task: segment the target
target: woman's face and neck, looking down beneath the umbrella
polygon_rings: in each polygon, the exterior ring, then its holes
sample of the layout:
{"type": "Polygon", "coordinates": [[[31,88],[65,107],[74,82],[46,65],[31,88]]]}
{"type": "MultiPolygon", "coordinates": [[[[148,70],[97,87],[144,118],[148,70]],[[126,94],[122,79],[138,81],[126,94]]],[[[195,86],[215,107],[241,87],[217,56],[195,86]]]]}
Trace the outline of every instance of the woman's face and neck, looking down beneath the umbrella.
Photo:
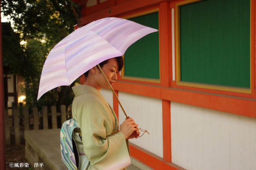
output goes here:
{"type": "MultiPolygon", "coordinates": [[[[114,85],[115,81],[117,80],[118,74],[118,63],[115,58],[109,59],[108,63],[104,64],[101,67],[102,71],[104,72],[105,76],[108,79],[110,85],[114,85]]],[[[97,68],[97,73],[95,74],[95,80],[97,81],[96,89],[100,90],[101,88],[110,89],[107,81],[105,80],[103,74],[101,73],[100,69],[97,68]]]]}

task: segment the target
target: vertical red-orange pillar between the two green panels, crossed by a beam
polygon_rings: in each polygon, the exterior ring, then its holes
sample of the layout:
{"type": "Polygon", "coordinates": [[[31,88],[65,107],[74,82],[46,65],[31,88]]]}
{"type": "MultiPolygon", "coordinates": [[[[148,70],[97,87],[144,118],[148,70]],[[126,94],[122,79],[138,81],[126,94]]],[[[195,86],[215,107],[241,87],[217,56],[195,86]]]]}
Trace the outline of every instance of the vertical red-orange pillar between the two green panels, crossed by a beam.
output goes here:
{"type": "MultiPolygon", "coordinates": [[[[159,40],[160,40],[160,81],[162,87],[170,87],[172,80],[171,63],[171,9],[169,2],[160,4],[159,9],[159,40]]],[[[171,104],[162,99],[162,133],[163,133],[163,160],[172,162],[171,153],[171,104]]]]}

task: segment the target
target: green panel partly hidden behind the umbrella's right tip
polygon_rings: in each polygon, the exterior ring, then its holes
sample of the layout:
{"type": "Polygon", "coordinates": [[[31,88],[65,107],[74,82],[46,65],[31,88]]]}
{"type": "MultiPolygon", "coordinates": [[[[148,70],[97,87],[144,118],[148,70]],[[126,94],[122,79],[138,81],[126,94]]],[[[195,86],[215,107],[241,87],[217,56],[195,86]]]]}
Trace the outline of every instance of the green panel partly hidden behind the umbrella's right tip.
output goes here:
{"type": "MultiPolygon", "coordinates": [[[[159,29],[158,12],[129,20],[159,29]]],[[[132,44],[125,53],[125,76],[159,79],[159,33],[153,32],[132,44]]]]}

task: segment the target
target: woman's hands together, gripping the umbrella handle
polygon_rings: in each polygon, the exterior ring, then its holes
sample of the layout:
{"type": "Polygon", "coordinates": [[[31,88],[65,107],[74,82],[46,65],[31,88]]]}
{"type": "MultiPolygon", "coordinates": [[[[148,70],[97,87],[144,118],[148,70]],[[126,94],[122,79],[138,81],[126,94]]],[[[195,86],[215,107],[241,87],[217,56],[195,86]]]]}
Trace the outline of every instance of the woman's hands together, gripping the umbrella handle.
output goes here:
{"type": "Polygon", "coordinates": [[[133,118],[128,118],[120,124],[120,131],[125,136],[125,139],[137,138],[140,135],[138,124],[135,124],[133,118]]]}

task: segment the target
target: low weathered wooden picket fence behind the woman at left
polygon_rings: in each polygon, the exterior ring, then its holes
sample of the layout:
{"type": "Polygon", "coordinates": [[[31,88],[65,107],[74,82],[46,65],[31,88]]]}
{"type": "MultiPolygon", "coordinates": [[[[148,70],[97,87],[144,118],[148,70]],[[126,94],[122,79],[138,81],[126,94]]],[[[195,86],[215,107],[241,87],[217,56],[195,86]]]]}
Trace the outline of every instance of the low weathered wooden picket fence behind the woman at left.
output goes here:
{"type": "Polygon", "coordinates": [[[50,107],[50,113],[47,111],[47,106],[42,107],[42,113],[38,112],[37,107],[34,107],[32,110],[32,113],[29,114],[27,107],[17,108],[13,105],[11,108],[11,116],[7,108],[4,110],[6,145],[11,144],[10,127],[14,128],[15,145],[19,145],[21,143],[20,126],[24,126],[24,128],[22,128],[24,131],[49,128],[56,129],[58,128],[57,117],[61,117],[61,124],[72,118],[72,105],[68,108],[66,108],[65,105],[61,105],[61,113],[57,113],[56,106],[50,107]],[[51,124],[48,124],[48,120],[51,120],[51,124]]]}

